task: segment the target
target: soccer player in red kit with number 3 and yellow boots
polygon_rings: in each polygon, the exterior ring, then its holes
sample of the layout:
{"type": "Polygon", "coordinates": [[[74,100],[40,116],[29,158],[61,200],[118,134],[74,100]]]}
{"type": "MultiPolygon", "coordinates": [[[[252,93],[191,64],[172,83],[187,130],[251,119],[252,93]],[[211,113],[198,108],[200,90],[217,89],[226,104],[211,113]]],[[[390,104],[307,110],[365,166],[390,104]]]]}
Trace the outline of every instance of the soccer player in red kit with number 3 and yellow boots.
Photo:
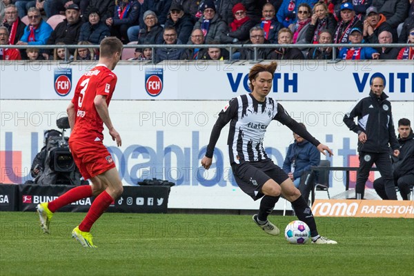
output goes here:
{"type": "Polygon", "coordinates": [[[108,112],[117,84],[117,76],[112,70],[121,52],[122,43],[116,37],[106,37],[101,41],[97,66],[79,79],[75,96],[67,108],[72,130],[70,152],[81,175],[84,179],[90,179],[92,185],[72,188],[49,203],[37,205],[41,228],[44,233],[50,233],[50,219],[56,210],[79,199],[97,196],[81,224],[72,230],[72,237],[85,247],[96,247],[92,243],[90,228],[123,191],[115,163],[103,146],[103,124],[112,140],[121,146],[121,137],[112,125],[108,112]]]}

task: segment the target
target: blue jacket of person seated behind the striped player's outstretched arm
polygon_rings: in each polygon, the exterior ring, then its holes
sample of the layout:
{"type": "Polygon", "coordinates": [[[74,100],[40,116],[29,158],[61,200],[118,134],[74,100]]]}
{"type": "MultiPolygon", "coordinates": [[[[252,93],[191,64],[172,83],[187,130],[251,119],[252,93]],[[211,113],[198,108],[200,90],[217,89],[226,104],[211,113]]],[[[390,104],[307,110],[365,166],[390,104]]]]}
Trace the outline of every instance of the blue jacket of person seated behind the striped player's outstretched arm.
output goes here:
{"type": "Polygon", "coordinates": [[[311,166],[319,166],[321,155],[319,150],[313,144],[304,140],[301,143],[290,144],[286,158],[283,162],[284,172],[290,172],[290,166],[295,161],[295,172],[293,178],[297,179],[302,175],[302,172],[311,170],[311,166]]]}

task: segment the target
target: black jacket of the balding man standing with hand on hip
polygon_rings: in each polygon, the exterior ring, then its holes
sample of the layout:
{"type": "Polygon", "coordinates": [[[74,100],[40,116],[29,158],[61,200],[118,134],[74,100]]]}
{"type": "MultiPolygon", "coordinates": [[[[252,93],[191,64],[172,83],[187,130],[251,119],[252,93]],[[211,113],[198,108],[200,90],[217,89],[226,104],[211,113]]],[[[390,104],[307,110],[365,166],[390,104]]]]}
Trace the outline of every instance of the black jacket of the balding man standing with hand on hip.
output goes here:
{"type": "Polygon", "coordinates": [[[389,152],[388,145],[391,145],[393,150],[400,148],[395,137],[391,103],[387,98],[384,92],[377,98],[371,90],[368,97],[357,101],[344,116],[344,123],[350,130],[357,134],[366,134],[364,144],[358,141],[359,152],[389,152]],[[361,124],[355,124],[355,117],[361,124]]]}

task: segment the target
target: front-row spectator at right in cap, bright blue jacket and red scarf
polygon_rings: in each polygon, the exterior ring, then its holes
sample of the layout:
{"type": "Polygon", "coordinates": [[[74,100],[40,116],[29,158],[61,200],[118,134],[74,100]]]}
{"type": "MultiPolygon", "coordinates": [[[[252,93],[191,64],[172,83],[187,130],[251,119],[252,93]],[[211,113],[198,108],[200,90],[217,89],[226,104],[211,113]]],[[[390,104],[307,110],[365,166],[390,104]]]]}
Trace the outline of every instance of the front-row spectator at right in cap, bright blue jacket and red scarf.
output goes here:
{"type": "MultiPolygon", "coordinates": [[[[362,43],[362,30],[353,28],[349,34],[349,42],[351,44],[362,43]]],[[[378,59],[380,54],[371,47],[344,47],[339,50],[339,58],[341,59],[378,59]]]]}

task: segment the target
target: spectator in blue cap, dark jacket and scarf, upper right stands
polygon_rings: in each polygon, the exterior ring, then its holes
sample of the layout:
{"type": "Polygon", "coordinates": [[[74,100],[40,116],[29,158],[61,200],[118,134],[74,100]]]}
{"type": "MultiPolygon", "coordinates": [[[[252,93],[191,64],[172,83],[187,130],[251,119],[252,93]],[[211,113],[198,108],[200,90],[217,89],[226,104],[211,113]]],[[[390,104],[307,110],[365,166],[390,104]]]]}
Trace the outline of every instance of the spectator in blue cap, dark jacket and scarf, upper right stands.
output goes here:
{"type": "Polygon", "coordinates": [[[355,15],[353,5],[351,3],[343,3],[341,5],[341,20],[335,28],[333,43],[348,43],[349,34],[353,28],[362,30],[364,26],[362,21],[355,15]]]}

